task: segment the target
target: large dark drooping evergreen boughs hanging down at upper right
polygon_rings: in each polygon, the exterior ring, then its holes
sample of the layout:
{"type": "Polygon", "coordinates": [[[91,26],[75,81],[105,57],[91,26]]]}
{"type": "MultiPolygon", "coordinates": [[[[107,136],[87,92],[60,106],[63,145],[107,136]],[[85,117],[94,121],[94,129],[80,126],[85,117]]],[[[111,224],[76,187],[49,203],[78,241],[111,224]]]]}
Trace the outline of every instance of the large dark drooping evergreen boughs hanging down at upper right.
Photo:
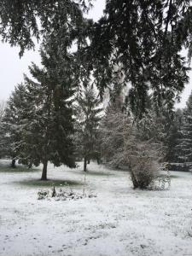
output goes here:
{"type": "Polygon", "coordinates": [[[149,91],[159,107],[172,109],[189,80],[181,49],[191,50],[191,12],[188,0],[108,0],[84,55],[101,93],[108,84],[119,87],[121,76],[121,87],[131,85],[131,111],[140,118],[149,91]]]}

